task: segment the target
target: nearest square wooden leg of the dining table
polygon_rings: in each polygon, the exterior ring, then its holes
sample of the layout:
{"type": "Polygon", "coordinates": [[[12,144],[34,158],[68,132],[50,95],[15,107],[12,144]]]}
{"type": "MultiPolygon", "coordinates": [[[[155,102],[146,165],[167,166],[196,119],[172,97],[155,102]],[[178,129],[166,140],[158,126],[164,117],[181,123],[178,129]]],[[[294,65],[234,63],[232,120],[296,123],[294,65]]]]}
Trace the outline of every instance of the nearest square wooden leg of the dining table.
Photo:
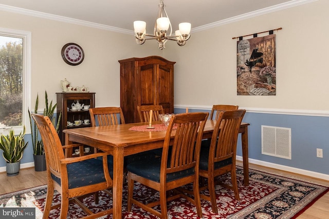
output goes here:
{"type": "Polygon", "coordinates": [[[121,219],[123,187],[123,148],[116,147],[113,154],[113,219],[121,219]]]}

